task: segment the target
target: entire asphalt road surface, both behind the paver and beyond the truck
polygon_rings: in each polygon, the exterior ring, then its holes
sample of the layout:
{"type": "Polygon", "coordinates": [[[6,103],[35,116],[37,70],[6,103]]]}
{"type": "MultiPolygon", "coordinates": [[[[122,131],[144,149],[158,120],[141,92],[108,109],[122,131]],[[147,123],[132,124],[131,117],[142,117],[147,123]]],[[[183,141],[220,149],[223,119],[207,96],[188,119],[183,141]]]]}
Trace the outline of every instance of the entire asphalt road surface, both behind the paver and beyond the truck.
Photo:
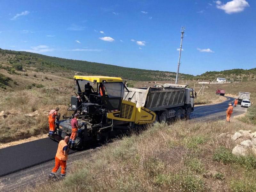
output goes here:
{"type": "MultiPolygon", "coordinates": [[[[195,107],[190,121],[225,119],[225,111],[230,102],[233,103],[234,98],[227,97],[226,101],[219,104],[195,107]]],[[[238,105],[234,107],[232,116],[245,112],[246,108],[238,105]]],[[[54,166],[57,147],[57,142],[45,138],[0,149],[0,191],[13,191],[45,182],[54,166]]],[[[81,152],[71,151],[73,154],[69,155],[67,167],[82,157],[90,159],[99,148],[81,152]]]]}

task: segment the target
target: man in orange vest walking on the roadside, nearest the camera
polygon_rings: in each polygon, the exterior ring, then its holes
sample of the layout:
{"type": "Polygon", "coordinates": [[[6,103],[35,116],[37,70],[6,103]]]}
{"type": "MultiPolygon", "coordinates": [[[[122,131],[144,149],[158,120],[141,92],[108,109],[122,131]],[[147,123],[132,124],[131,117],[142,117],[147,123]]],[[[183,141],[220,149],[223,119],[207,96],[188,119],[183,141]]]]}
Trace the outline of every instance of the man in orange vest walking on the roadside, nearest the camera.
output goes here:
{"type": "Polygon", "coordinates": [[[66,136],[64,140],[61,140],[58,145],[57,153],[55,156],[55,166],[49,175],[49,178],[56,177],[56,173],[61,166],[60,178],[63,179],[66,175],[67,159],[68,159],[68,140],[69,136],[66,136]]]}

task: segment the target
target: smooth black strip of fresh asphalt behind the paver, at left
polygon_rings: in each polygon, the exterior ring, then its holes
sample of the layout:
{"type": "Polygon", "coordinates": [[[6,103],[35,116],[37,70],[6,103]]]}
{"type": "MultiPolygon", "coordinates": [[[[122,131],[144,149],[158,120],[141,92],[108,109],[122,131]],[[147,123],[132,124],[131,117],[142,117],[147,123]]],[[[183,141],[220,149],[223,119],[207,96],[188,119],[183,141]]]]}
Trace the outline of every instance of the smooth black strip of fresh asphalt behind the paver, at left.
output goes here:
{"type": "Polygon", "coordinates": [[[58,142],[44,138],[0,149],[0,177],[54,159],[57,148],[58,142]]]}

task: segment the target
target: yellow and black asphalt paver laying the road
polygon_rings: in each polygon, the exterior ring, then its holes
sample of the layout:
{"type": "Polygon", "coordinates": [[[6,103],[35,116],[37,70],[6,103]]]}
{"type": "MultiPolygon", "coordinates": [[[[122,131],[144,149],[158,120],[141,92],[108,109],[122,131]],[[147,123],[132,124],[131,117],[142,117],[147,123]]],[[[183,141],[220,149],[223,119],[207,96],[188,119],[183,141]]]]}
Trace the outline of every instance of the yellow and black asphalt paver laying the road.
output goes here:
{"type": "Polygon", "coordinates": [[[71,135],[71,120],[79,113],[75,148],[83,148],[88,143],[105,141],[109,137],[125,134],[136,126],[153,123],[156,114],[143,106],[124,100],[124,91],[129,92],[120,77],[74,76],[75,96],[71,96],[68,111],[72,115],[56,119],[54,140],[62,140],[71,135]],[[92,88],[94,91],[92,91],[92,88]]]}

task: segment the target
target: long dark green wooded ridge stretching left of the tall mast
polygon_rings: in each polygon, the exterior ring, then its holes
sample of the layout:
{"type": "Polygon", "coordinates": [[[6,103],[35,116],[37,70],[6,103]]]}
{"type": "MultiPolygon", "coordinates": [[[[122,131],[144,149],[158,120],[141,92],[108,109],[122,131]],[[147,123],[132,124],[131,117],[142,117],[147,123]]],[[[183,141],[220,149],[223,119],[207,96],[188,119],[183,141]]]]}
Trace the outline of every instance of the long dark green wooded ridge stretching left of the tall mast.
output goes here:
{"type": "MultiPolygon", "coordinates": [[[[121,76],[124,79],[135,81],[174,80],[176,77],[175,72],[126,68],[103,63],[50,57],[31,52],[0,49],[0,53],[1,60],[7,60],[9,64],[33,67],[40,72],[60,72],[60,70],[70,72],[71,70],[81,72],[81,75],[121,76]]],[[[192,79],[194,76],[180,74],[179,77],[180,79],[192,79]]]]}

